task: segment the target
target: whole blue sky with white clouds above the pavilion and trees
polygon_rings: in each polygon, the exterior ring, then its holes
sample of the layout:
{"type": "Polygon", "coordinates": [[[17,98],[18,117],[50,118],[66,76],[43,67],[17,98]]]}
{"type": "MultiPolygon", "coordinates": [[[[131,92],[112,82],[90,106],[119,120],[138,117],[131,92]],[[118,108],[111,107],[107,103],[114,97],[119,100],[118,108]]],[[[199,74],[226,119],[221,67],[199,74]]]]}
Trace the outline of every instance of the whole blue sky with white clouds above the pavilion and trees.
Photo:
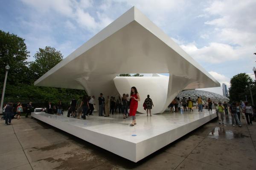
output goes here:
{"type": "Polygon", "coordinates": [[[221,84],[253,74],[256,0],[0,0],[0,30],[25,39],[29,61],[47,45],[67,57],[133,6],[221,84]]]}

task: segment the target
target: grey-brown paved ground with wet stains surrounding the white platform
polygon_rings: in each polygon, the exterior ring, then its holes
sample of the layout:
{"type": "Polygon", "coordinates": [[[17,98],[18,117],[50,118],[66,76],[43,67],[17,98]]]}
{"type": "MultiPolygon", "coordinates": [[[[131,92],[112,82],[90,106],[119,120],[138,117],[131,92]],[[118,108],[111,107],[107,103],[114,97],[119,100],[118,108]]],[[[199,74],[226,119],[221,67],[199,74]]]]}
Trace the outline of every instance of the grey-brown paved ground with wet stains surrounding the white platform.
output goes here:
{"type": "Polygon", "coordinates": [[[1,170],[253,170],[255,125],[212,120],[134,163],[35,119],[0,121],[1,170]]]}

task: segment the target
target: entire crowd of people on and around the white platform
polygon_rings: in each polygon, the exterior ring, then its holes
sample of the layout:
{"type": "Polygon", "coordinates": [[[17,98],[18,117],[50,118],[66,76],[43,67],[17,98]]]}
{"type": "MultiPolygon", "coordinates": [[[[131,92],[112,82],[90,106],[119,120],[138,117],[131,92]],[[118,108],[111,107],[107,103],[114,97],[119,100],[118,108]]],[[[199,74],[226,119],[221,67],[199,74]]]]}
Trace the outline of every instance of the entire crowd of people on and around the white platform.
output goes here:
{"type": "MultiPolygon", "coordinates": [[[[140,101],[140,95],[137,91],[137,88],[132,87],[131,93],[123,94],[122,98],[119,96],[117,99],[114,96],[103,96],[101,93],[98,97],[99,101],[99,116],[108,117],[110,114],[114,113],[122,113],[123,119],[127,119],[128,117],[132,117],[132,123],[130,126],[136,125],[136,112],[138,108],[138,102],[140,101]]],[[[86,119],[86,116],[93,115],[95,106],[95,96],[87,96],[79,97],[78,100],[72,99],[70,102],[70,107],[68,108],[68,117],[73,117],[77,119],[86,119]]],[[[143,102],[143,108],[146,110],[147,116],[148,113],[150,116],[151,109],[154,107],[153,101],[149,95],[147,95],[146,99],[143,102]]],[[[241,116],[244,119],[246,117],[246,121],[248,125],[252,125],[253,119],[256,119],[256,111],[255,108],[250,106],[248,102],[233,102],[230,105],[226,102],[212,102],[210,98],[207,99],[206,102],[198,96],[196,101],[193,101],[190,97],[186,99],[184,96],[182,99],[179,97],[175,97],[175,99],[170,103],[169,109],[171,112],[180,112],[180,111],[189,111],[193,112],[193,108],[198,108],[198,112],[202,112],[203,108],[208,111],[216,110],[216,114],[218,116],[219,124],[224,124],[225,119],[229,119],[229,112],[232,117],[232,125],[238,125],[241,127],[241,116]],[[243,115],[244,113],[244,115],[243,115]],[[225,114],[225,116],[224,116],[225,114]]],[[[61,101],[58,102],[57,105],[52,105],[51,102],[48,102],[46,111],[49,114],[63,115],[63,105],[61,101]]],[[[42,111],[44,108],[42,109],[42,111]]],[[[8,103],[3,107],[4,116],[2,119],[5,119],[6,125],[10,125],[12,119],[20,119],[20,114],[23,113],[23,106],[21,103],[17,103],[17,107],[13,107],[13,103],[8,103]]],[[[28,117],[29,113],[32,112],[32,102],[29,102],[26,106],[26,117],[28,117]]]]}

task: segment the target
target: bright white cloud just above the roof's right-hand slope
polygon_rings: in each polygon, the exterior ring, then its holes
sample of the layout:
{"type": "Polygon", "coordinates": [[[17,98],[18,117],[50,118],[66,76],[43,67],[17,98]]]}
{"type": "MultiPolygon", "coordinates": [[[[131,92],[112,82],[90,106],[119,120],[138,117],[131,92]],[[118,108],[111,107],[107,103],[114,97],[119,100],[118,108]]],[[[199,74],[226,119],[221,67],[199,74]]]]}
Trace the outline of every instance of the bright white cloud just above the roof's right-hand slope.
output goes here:
{"type": "Polygon", "coordinates": [[[195,43],[190,43],[180,45],[180,47],[194,59],[210,63],[220,63],[239,58],[236,49],[227,44],[211,42],[208,46],[198,48],[195,43]]]}

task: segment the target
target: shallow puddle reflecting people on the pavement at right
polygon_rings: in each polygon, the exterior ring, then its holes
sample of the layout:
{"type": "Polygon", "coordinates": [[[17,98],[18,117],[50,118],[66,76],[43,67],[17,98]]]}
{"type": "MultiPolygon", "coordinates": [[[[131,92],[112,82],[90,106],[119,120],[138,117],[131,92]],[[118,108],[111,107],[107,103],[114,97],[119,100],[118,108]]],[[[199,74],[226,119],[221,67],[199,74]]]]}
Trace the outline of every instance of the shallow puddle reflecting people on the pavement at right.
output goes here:
{"type": "Polygon", "coordinates": [[[215,127],[212,129],[211,133],[209,133],[208,137],[214,139],[238,139],[249,136],[246,136],[243,133],[235,133],[232,130],[225,130],[224,127],[215,127]]]}

